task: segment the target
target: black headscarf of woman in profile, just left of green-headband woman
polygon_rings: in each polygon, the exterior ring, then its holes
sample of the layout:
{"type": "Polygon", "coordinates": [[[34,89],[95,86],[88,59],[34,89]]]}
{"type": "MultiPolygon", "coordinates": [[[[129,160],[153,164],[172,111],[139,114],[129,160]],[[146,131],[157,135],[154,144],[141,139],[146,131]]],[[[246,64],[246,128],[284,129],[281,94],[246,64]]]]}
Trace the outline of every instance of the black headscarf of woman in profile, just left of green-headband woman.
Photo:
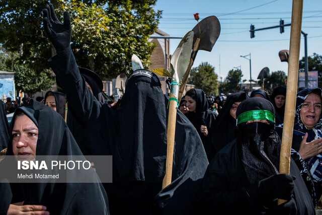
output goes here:
{"type": "Polygon", "coordinates": [[[217,116],[215,125],[210,132],[210,141],[214,147],[215,154],[236,138],[236,120],[230,115],[230,108],[233,103],[242,102],[247,98],[249,96],[244,91],[233,93],[227,97],[225,104],[217,116]]]}

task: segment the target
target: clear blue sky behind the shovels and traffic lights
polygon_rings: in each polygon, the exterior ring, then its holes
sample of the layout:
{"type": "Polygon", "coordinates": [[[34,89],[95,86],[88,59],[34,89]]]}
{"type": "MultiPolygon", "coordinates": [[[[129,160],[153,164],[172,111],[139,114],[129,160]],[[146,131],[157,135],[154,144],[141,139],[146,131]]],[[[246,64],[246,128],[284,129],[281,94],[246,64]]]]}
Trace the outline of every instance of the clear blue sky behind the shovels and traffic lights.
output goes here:
{"type": "MultiPolygon", "coordinates": [[[[278,52],[289,49],[290,26],[255,32],[250,38],[250,26],[255,29],[291,22],[292,1],[290,0],[158,0],[155,10],[163,11],[159,29],[170,36],[184,36],[196,24],[193,14],[199,13],[200,20],[216,16],[220,22],[220,36],[211,52],[199,51],[193,66],[209,62],[215,73],[227,76],[233,67],[241,66],[243,80],[250,79],[250,62],[240,57],[251,53],[252,78],[257,79],[264,67],[272,71],[283,70],[287,74],[287,62],[281,62],[278,52]],[[220,60],[219,60],[220,59],[220,60]]],[[[302,31],[307,33],[308,56],[314,52],[322,55],[322,1],[308,0],[303,4],[302,31]]],[[[170,53],[177,48],[180,39],[170,40],[170,53]]],[[[304,37],[301,36],[300,59],[304,57],[304,37]]]]}

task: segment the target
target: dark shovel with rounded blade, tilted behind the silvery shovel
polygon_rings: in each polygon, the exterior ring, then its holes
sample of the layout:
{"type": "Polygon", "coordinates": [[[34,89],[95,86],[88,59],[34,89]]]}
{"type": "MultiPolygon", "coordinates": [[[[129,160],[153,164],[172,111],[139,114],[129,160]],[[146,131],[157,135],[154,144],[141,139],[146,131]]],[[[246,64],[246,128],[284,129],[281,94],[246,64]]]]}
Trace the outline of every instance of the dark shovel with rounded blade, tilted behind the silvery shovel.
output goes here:
{"type": "Polygon", "coordinates": [[[219,20],[215,16],[207,17],[203,19],[199,24],[197,24],[192,29],[192,31],[195,33],[193,38],[193,50],[191,53],[189,66],[186,70],[186,73],[182,79],[182,84],[180,86],[179,98],[178,98],[179,101],[181,100],[182,94],[185,91],[186,84],[190,75],[190,70],[196,58],[198,50],[205,50],[210,52],[219,37],[219,34],[220,34],[219,20]]]}

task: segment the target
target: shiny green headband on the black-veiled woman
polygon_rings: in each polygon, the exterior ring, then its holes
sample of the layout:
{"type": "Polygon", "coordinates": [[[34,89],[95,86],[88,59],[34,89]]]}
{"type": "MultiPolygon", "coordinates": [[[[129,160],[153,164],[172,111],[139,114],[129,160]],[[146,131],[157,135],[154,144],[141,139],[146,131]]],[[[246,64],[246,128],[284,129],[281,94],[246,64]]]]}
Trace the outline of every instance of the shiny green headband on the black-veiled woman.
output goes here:
{"type": "Polygon", "coordinates": [[[270,120],[275,122],[275,115],[268,110],[251,110],[240,114],[237,117],[236,125],[250,120],[270,120]]]}

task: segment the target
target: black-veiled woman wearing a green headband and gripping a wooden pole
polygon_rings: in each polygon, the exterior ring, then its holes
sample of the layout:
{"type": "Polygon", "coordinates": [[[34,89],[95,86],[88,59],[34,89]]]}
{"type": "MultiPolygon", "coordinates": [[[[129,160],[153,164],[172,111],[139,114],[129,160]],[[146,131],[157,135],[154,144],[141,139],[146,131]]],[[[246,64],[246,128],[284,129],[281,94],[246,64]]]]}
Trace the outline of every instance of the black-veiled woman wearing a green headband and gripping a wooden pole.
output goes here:
{"type": "Polygon", "coordinates": [[[294,161],[291,175],[278,174],[280,139],[274,114],[272,103],[263,98],[240,103],[237,138],[216,154],[205,174],[203,214],[315,213],[294,161]],[[277,205],[277,198],[287,201],[277,205]]]}

